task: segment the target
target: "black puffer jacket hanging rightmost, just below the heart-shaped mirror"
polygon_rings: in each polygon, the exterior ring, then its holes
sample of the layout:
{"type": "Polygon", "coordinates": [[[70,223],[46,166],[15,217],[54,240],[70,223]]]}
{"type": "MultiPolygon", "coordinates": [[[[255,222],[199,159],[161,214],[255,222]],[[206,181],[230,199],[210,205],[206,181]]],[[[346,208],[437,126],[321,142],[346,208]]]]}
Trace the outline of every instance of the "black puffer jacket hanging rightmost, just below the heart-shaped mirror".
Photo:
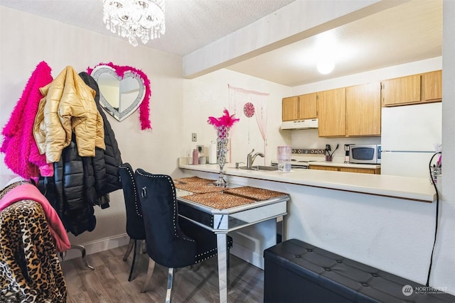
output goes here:
{"type": "MultiPolygon", "coordinates": [[[[114,192],[115,190],[122,188],[118,172],[119,166],[122,164],[122,155],[117,140],[115,139],[114,131],[112,131],[112,127],[100,104],[100,88],[98,87],[97,82],[92,76],[88,75],[87,72],[80,72],[79,75],[84,80],[85,84],[92,87],[92,89],[95,89],[95,103],[97,104],[98,111],[100,111],[105,126],[106,149],[102,150],[97,148],[93,160],[93,167],[95,167],[95,186],[98,197],[102,197],[109,192],[114,192]]],[[[101,205],[103,206],[103,204],[101,205]]]]}

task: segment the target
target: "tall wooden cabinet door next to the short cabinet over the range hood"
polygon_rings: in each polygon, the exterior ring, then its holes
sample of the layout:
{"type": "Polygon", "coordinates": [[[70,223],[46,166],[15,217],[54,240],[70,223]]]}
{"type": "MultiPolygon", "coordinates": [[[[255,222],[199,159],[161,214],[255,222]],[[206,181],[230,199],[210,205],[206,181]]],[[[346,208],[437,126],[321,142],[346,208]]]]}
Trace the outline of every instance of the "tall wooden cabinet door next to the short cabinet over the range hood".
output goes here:
{"type": "Polygon", "coordinates": [[[319,137],[346,136],[346,88],[318,93],[319,137]]]}

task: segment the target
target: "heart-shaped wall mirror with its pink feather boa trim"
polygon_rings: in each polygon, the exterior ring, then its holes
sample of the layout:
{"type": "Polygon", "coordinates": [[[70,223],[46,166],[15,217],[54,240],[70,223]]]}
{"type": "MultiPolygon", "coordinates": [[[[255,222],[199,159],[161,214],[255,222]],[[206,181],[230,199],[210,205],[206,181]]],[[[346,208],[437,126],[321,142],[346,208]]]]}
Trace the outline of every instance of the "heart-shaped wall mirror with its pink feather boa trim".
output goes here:
{"type": "Polygon", "coordinates": [[[149,121],[149,79],[133,67],[112,63],[97,65],[90,75],[100,88],[100,104],[111,116],[122,121],[140,106],[141,128],[151,128],[149,121]]]}

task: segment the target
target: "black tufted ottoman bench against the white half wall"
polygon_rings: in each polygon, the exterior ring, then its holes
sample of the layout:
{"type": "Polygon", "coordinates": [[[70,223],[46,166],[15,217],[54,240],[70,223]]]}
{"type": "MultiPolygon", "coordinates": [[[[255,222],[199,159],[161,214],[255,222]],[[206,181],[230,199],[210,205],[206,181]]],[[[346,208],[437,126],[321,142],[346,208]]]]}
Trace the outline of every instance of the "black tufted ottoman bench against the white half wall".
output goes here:
{"type": "Polygon", "coordinates": [[[291,239],[264,250],[264,303],[455,302],[455,296],[291,239]]]}

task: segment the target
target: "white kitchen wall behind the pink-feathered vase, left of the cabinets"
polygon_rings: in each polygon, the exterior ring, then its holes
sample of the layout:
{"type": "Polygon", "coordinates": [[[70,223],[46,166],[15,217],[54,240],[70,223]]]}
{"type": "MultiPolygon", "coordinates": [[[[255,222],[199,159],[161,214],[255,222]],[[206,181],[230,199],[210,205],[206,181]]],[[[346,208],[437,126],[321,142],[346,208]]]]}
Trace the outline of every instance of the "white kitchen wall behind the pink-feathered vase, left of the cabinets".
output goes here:
{"type": "Polygon", "coordinates": [[[223,115],[223,109],[229,109],[228,84],[232,87],[267,93],[269,97],[265,150],[255,116],[248,119],[240,111],[235,115],[240,121],[235,123],[230,132],[232,163],[227,165],[233,165],[234,162],[245,162],[247,153],[250,153],[252,148],[255,148],[255,152],[265,155],[265,158],[258,157],[255,164],[269,165],[270,161],[276,158],[277,146],[290,143],[290,134],[281,131],[279,127],[282,122],[282,97],[290,94],[291,88],[231,70],[218,70],[196,79],[185,80],[183,89],[185,92],[183,94],[185,119],[183,119],[182,125],[184,141],[180,150],[181,155],[185,156],[186,150],[195,148],[196,144],[207,147],[210,141],[216,140],[215,129],[207,123],[207,120],[209,116],[218,118],[223,115]],[[191,133],[198,133],[198,142],[191,142],[191,133]]]}

